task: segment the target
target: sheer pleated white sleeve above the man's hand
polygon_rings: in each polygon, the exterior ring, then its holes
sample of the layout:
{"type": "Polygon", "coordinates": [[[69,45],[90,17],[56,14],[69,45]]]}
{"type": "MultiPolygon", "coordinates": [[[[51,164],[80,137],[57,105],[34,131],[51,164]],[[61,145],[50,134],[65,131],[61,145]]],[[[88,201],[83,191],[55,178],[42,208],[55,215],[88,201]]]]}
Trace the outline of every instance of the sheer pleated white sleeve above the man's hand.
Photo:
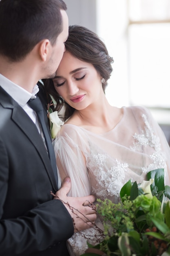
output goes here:
{"type": "Polygon", "coordinates": [[[59,180],[66,176],[71,178],[69,196],[90,195],[91,186],[85,159],[89,150],[88,140],[84,134],[77,132],[77,126],[73,126],[73,129],[69,127],[62,126],[54,144],[59,180]]]}

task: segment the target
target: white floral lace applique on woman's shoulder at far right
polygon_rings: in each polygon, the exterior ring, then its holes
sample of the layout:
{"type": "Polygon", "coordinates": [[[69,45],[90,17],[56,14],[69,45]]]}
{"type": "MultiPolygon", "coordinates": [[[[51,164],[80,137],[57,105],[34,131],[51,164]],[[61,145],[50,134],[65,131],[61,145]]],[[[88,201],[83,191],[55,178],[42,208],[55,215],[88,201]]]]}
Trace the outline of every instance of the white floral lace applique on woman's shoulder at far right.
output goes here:
{"type": "Polygon", "coordinates": [[[150,159],[152,159],[152,163],[147,167],[141,167],[144,173],[148,173],[157,168],[164,168],[165,177],[166,177],[166,157],[161,150],[161,144],[159,137],[154,134],[154,130],[150,126],[146,115],[142,115],[145,123],[144,130],[141,131],[141,134],[135,133],[133,136],[136,142],[133,143],[133,146],[130,146],[130,149],[133,151],[143,151],[143,147],[150,146],[155,149],[155,152],[150,155],[150,159]]]}

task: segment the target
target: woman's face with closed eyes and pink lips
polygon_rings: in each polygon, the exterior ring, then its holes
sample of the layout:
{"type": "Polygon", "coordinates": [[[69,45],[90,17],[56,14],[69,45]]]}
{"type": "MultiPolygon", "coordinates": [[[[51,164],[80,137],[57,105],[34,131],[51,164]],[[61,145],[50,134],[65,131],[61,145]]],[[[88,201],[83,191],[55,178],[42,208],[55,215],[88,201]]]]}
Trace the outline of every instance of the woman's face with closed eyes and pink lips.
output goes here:
{"type": "Polygon", "coordinates": [[[53,79],[55,90],[73,108],[81,110],[99,100],[101,76],[91,63],[64,52],[53,79]]]}

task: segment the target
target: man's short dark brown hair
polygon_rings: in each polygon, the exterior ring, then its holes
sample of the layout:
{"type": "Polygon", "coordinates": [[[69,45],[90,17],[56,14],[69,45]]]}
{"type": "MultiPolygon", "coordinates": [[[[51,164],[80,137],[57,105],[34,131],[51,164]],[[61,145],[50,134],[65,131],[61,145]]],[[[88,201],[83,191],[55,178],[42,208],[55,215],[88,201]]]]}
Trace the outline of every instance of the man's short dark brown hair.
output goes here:
{"type": "Polygon", "coordinates": [[[62,0],[0,0],[0,54],[22,60],[37,43],[62,32],[62,0]]]}

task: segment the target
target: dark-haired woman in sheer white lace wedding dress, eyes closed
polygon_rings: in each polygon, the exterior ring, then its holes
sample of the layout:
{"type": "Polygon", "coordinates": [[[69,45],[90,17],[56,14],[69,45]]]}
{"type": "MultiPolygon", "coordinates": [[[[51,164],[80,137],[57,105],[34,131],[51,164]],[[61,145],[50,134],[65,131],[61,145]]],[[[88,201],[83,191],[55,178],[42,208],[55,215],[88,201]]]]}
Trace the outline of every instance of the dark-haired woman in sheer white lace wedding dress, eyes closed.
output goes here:
{"type": "MultiPolygon", "coordinates": [[[[169,185],[170,148],[150,111],[142,106],[117,108],[106,99],[113,59],[102,40],[84,27],[70,26],[65,47],[55,78],[44,85],[57,102],[55,110],[65,106],[65,124],[54,150],[60,182],[71,177],[69,195],[93,193],[119,202],[128,180],[140,183],[157,168],[164,168],[169,185]]],[[[90,243],[94,230],[85,231],[90,243]]],[[[69,243],[73,255],[87,249],[86,238],[78,232],[69,243]]]]}

